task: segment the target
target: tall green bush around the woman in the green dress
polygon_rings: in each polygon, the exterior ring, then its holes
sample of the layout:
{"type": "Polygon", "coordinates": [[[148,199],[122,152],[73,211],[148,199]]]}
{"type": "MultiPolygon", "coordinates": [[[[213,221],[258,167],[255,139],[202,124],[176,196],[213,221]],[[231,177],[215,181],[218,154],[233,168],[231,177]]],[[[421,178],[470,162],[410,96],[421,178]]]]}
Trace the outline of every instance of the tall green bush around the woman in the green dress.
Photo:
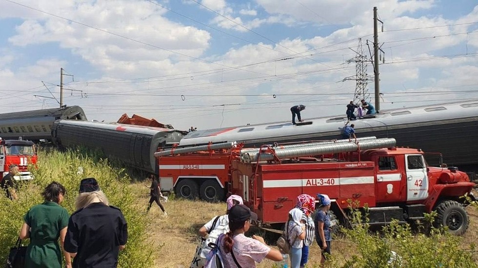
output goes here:
{"type": "Polygon", "coordinates": [[[113,168],[98,156],[78,151],[59,152],[40,150],[37,167],[30,167],[35,179],[19,185],[19,199],[10,201],[0,197],[0,263],[4,263],[9,248],[15,243],[23,224],[23,215],[32,206],[43,202],[43,188],[52,181],[60,182],[67,191],[61,205],[71,214],[80,180],[94,177],[110,205],[119,207],[128,223],[128,243],[119,254],[119,267],[144,268],[153,265],[153,247],[146,240],[146,216],[136,205],[136,197],[129,189],[130,178],[124,170],[113,168]]]}

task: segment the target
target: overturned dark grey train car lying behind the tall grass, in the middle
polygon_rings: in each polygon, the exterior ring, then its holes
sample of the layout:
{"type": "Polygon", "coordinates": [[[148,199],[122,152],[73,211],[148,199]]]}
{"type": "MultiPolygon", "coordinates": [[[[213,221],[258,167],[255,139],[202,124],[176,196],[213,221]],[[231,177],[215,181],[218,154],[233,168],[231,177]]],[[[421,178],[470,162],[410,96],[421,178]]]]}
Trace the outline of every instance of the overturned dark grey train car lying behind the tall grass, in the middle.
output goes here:
{"type": "Polygon", "coordinates": [[[58,120],[52,127],[52,141],[60,147],[84,146],[140,170],[158,174],[154,153],[167,143],[178,143],[182,131],[99,122],[58,120]]]}

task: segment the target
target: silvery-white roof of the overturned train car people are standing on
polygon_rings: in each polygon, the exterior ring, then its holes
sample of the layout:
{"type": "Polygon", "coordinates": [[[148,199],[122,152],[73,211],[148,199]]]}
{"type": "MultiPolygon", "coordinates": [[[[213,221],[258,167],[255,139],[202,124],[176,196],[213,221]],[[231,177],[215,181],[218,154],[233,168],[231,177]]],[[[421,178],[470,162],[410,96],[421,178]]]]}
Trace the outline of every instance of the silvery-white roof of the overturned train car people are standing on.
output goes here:
{"type": "MultiPolygon", "coordinates": [[[[418,106],[395,110],[381,111],[373,118],[351,121],[356,129],[379,126],[400,127],[400,125],[427,122],[440,124],[444,120],[478,118],[478,100],[467,102],[444,103],[430,106],[418,106]]],[[[317,133],[339,133],[347,122],[345,115],[308,119],[310,125],[292,125],[288,122],[276,122],[257,125],[242,125],[190,132],[180,141],[180,145],[204,144],[209,142],[242,142],[254,139],[276,137],[294,137],[298,135],[314,135],[317,133]]]]}

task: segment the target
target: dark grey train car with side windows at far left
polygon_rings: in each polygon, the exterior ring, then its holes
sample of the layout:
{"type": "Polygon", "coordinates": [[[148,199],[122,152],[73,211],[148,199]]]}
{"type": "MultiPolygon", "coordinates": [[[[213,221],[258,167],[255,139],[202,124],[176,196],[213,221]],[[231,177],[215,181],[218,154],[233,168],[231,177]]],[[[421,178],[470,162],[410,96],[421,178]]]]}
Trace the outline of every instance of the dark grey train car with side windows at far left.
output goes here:
{"type": "Polygon", "coordinates": [[[0,137],[4,140],[21,137],[34,142],[51,140],[53,123],[60,119],[85,121],[86,116],[79,106],[3,113],[0,114],[0,137]]]}

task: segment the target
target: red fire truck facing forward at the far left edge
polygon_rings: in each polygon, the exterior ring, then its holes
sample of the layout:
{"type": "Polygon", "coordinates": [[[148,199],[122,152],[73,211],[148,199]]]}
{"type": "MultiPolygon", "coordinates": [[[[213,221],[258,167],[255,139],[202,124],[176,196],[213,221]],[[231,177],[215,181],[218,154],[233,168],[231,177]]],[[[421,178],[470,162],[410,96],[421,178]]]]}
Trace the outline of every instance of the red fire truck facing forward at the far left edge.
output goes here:
{"type": "Polygon", "coordinates": [[[19,174],[16,180],[30,180],[32,174],[28,171],[29,164],[37,163],[35,144],[23,140],[1,140],[0,141],[0,179],[9,173],[9,166],[17,164],[19,174]]]}

